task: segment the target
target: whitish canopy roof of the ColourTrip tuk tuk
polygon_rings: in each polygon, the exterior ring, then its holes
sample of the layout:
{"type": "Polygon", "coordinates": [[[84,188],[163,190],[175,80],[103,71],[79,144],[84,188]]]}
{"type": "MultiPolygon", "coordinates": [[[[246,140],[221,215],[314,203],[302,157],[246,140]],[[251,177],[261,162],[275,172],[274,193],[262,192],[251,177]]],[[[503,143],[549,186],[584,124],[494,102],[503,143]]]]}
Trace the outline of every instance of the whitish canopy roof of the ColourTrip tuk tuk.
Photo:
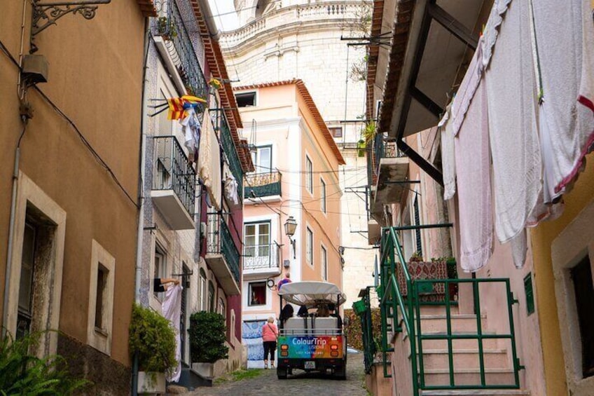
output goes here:
{"type": "Polygon", "coordinates": [[[279,296],[299,306],[312,305],[314,303],[334,303],[340,306],[347,297],[330,282],[291,282],[285,283],[279,290],[279,296]],[[337,302],[338,301],[338,302],[337,302]]]}

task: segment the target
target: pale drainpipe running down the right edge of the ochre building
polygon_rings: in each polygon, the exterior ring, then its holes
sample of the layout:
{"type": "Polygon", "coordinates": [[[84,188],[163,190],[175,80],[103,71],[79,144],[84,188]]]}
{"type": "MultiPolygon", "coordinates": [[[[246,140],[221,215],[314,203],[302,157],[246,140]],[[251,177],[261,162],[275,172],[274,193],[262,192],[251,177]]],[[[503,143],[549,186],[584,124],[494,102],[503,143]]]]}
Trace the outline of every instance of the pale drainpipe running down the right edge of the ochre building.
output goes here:
{"type": "MultiPolygon", "coordinates": [[[[142,99],[141,99],[141,118],[140,118],[140,179],[139,179],[139,208],[138,208],[138,232],[136,240],[136,268],[134,279],[134,301],[140,303],[140,283],[142,279],[142,240],[144,234],[144,175],[146,161],[146,118],[147,114],[147,93],[146,93],[146,63],[148,60],[148,48],[150,46],[150,20],[144,18],[144,62],[142,65],[142,99]]],[[[134,353],[132,361],[132,395],[138,395],[138,354],[134,353]]]]}

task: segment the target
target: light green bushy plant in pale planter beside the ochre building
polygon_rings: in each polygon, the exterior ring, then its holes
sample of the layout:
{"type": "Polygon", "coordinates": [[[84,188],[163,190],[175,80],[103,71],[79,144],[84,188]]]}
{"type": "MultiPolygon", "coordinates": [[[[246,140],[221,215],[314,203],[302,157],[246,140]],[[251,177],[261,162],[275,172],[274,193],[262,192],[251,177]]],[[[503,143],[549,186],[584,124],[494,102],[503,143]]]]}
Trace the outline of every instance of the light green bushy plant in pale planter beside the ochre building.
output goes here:
{"type": "Polygon", "coordinates": [[[177,366],[175,332],[169,320],[134,304],[128,342],[130,353],[138,359],[138,392],[165,393],[165,371],[177,366]]]}

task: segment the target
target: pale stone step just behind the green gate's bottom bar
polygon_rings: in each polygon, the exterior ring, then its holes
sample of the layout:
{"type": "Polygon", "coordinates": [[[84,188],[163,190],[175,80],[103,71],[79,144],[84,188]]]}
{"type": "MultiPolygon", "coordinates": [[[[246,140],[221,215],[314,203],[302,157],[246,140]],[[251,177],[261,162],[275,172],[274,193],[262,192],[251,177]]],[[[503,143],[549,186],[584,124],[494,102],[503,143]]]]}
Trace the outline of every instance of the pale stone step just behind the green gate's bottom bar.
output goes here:
{"type": "MultiPolygon", "coordinates": [[[[425,369],[424,382],[428,386],[450,385],[448,369],[425,369]]],[[[485,383],[487,385],[511,385],[515,382],[513,369],[485,369],[485,383]]],[[[455,369],[455,385],[481,385],[481,371],[478,369],[455,369]]]]}

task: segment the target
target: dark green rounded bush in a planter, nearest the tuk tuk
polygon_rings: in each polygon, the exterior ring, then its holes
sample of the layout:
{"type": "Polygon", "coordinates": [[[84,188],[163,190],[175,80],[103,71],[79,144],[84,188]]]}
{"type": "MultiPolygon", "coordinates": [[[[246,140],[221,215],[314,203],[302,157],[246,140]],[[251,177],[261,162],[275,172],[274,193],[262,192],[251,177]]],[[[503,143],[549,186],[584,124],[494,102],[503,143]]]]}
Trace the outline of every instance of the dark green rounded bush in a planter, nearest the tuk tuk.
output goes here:
{"type": "Polygon", "coordinates": [[[225,345],[226,326],[223,315],[214,312],[196,312],[190,317],[190,355],[192,362],[214,363],[228,357],[225,345]]]}

